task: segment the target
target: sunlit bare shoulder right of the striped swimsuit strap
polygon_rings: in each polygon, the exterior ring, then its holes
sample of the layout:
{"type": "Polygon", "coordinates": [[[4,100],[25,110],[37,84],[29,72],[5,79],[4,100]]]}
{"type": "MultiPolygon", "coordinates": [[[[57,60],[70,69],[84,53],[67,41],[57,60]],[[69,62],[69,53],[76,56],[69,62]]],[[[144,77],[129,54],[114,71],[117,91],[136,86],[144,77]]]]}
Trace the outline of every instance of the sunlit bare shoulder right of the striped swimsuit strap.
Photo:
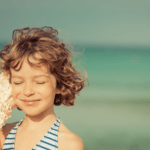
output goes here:
{"type": "Polygon", "coordinates": [[[84,150],[82,139],[70,131],[62,122],[58,130],[58,149],[59,150],[84,150]]]}

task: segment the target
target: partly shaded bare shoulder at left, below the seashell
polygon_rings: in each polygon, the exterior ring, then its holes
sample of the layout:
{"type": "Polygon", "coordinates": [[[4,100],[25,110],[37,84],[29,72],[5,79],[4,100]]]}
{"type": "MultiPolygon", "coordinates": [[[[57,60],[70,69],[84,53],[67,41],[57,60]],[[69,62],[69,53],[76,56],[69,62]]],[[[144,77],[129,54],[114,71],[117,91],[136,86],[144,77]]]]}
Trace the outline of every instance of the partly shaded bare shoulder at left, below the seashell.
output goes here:
{"type": "Polygon", "coordinates": [[[6,136],[9,133],[9,131],[16,125],[18,122],[13,123],[6,123],[1,129],[0,129],[0,148],[3,148],[3,144],[5,142],[6,136]]]}

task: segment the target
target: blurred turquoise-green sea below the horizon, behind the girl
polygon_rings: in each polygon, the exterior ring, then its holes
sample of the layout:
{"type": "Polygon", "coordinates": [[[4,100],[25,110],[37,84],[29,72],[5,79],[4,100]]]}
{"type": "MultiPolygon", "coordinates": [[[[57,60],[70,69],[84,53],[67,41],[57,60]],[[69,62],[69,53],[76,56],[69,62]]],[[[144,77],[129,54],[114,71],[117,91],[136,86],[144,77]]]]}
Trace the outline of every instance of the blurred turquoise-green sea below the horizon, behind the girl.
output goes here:
{"type": "MultiPolygon", "coordinates": [[[[75,45],[75,51],[83,52],[74,64],[87,71],[89,85],[75,106],[55,106],[56,115],[85,150],[149,150],[150,47],[89,44],[75,45]]],[[[14,109],[6,123],[24,115],[14,109]]]]}

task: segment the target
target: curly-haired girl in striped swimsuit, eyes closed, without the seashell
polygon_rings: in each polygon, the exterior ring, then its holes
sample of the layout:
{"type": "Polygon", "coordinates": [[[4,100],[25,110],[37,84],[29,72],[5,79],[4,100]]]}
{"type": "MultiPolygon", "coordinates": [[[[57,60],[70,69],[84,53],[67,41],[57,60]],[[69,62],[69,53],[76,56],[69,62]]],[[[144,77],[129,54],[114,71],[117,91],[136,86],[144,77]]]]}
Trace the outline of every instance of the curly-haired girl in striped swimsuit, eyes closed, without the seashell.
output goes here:
{"type": "Polygon", "coordinates": [[[54,105],[73,106],[87,79],[74,68],[72,52],[57,35],[52,27],[17,29],[0,52],[1,70],[12,88],[12,109],[26,114],[1,129],[3,150],[84,150],[81,138],[54,112],[54,105]]]}

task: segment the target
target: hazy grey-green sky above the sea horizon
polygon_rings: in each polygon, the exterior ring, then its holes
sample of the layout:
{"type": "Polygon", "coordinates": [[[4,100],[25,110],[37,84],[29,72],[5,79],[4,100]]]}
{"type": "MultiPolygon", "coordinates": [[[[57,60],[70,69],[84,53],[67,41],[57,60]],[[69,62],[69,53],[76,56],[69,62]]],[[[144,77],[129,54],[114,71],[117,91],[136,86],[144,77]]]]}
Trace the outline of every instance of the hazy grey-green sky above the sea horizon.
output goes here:
{"type": "Polygon", "coordinates": [[[14,29],[52,26],[71,43],[150,46],[149,0],[0,0],[0,41],[14,29]]]}

